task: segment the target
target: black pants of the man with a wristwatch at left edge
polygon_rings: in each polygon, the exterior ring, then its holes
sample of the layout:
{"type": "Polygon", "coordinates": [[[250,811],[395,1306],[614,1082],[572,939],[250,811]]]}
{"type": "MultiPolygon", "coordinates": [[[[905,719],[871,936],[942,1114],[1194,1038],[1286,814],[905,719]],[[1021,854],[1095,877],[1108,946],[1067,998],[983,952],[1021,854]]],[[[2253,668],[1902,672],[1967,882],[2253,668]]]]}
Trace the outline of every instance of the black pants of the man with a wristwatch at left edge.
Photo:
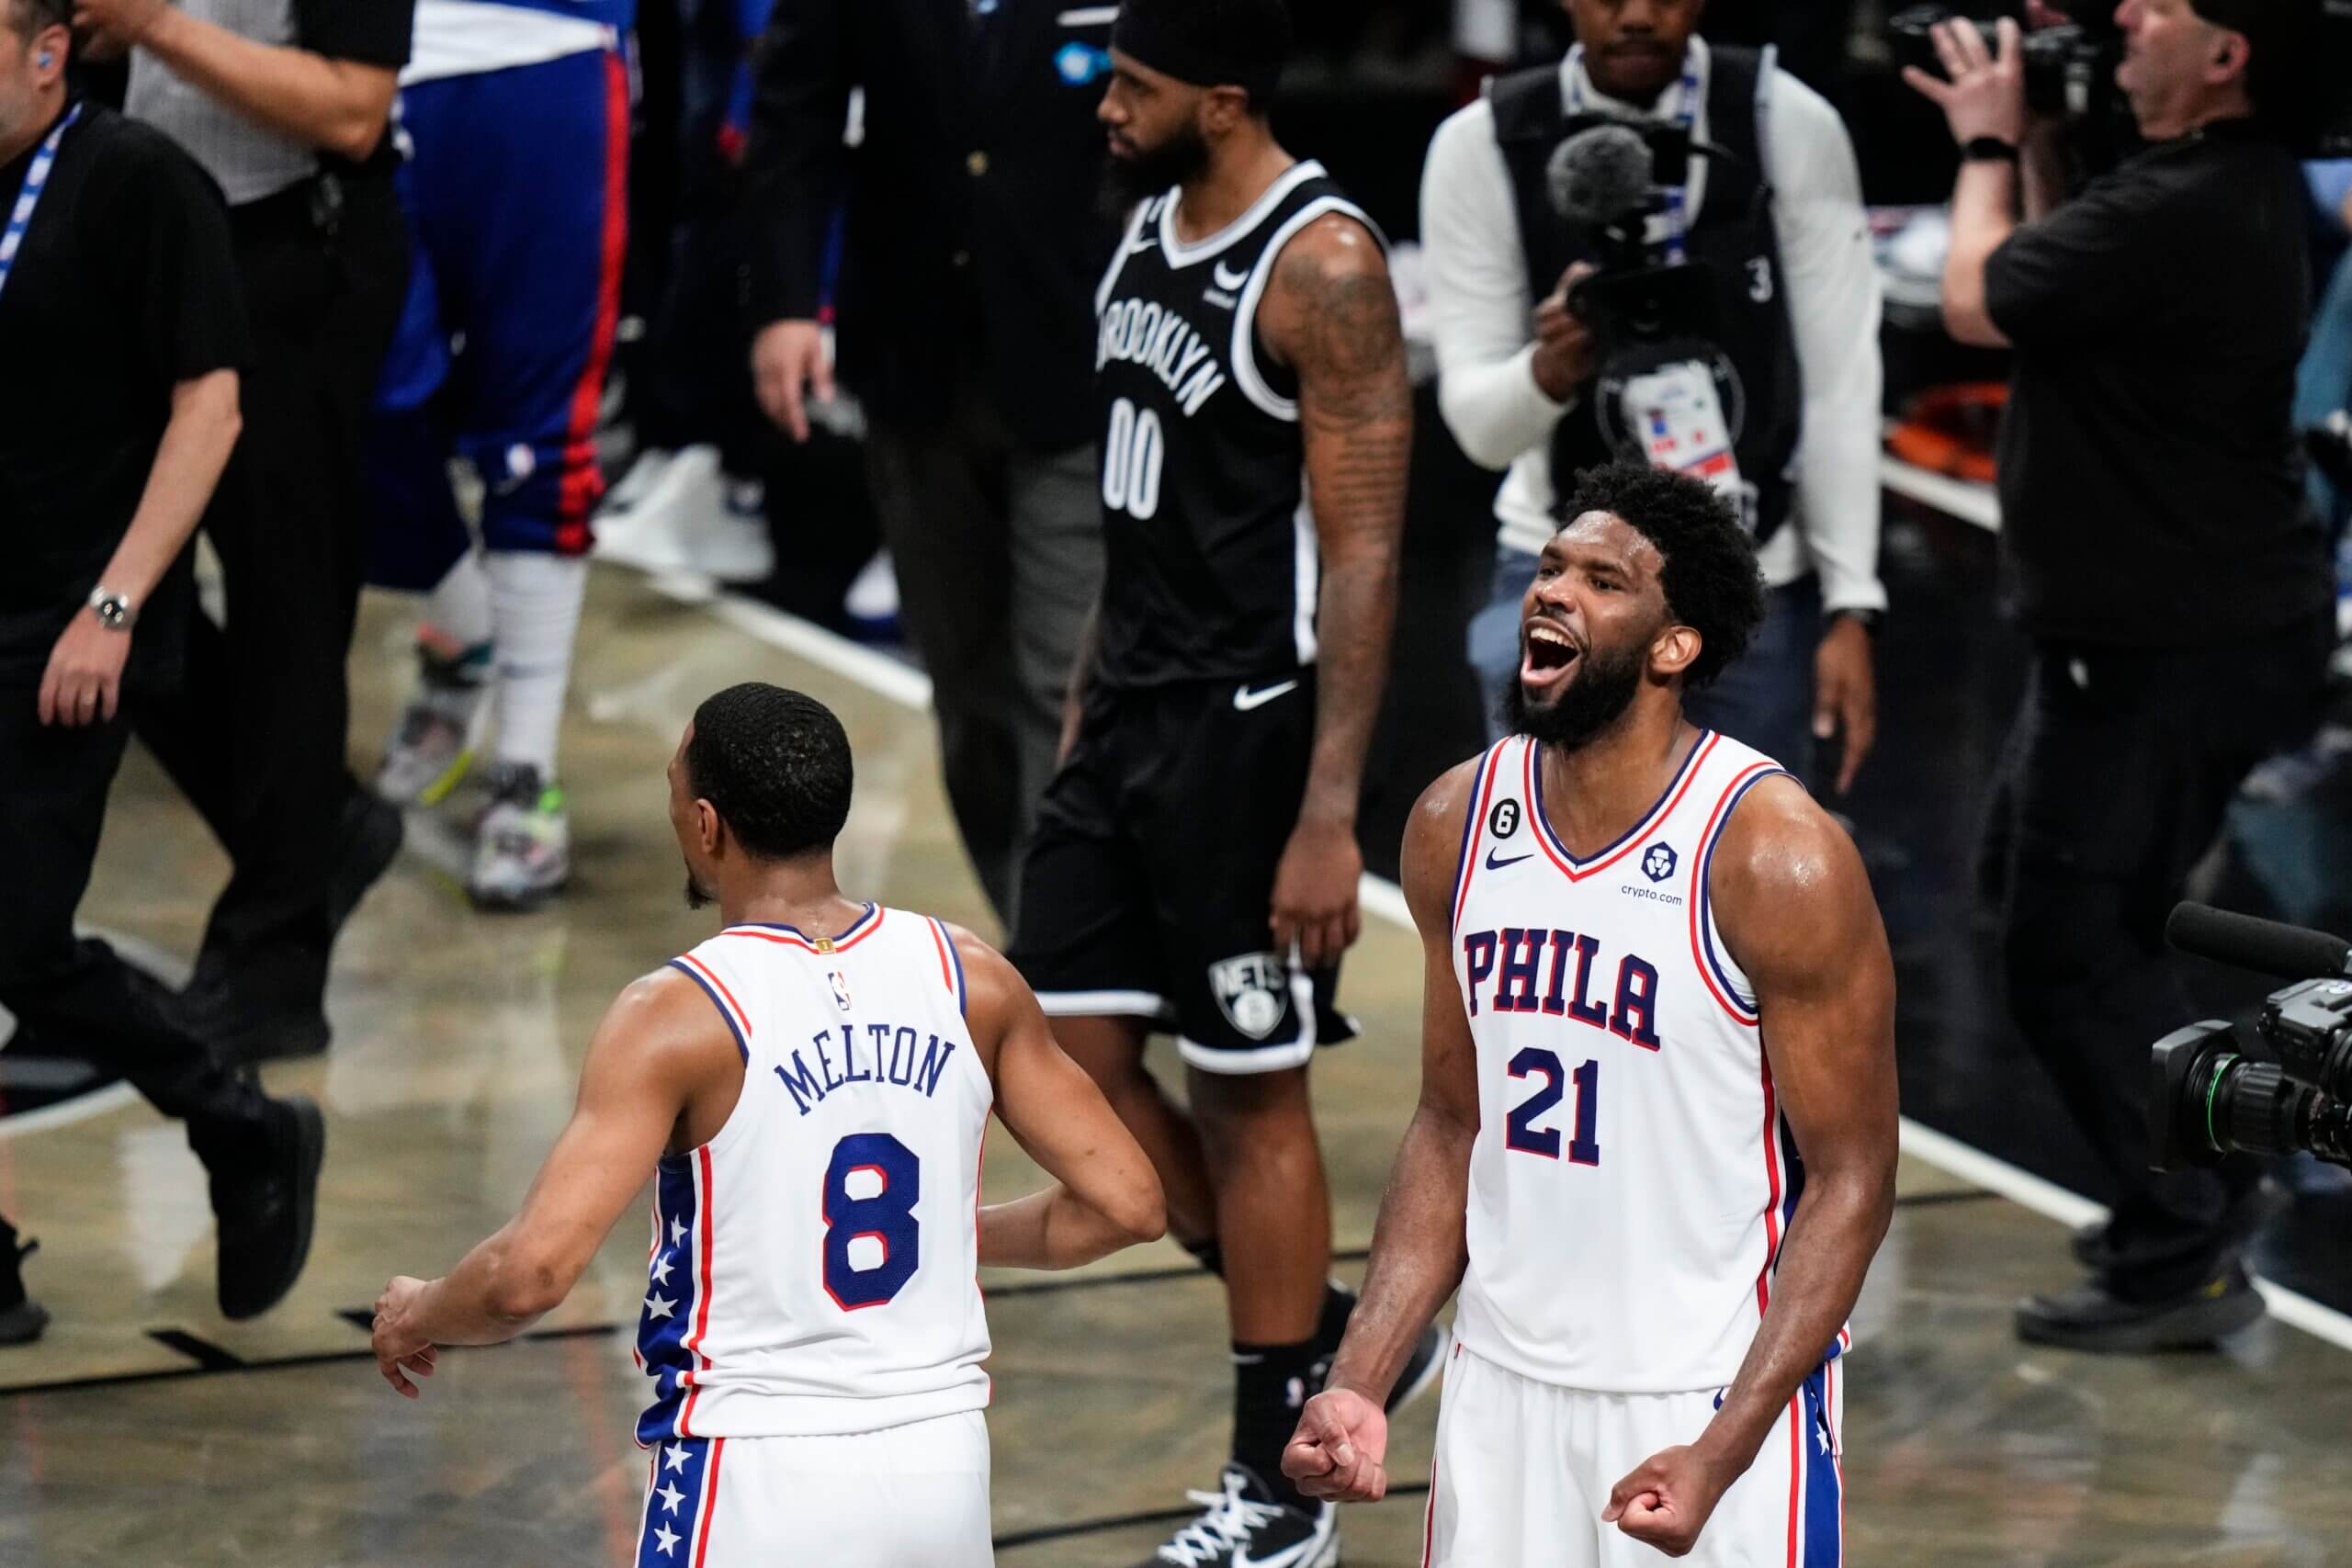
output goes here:
{"type": "Polygon", "coordinates": [[[89,729],[42,726],[38,691],[0,682],[0,1006],[42,1053],[120,1074],[183,1119],[188,1143],[219,1171],[261,1147],[261,1091],[172,1023],[158,980],[73,936],[129,724],[118,715],[89,729]]]}

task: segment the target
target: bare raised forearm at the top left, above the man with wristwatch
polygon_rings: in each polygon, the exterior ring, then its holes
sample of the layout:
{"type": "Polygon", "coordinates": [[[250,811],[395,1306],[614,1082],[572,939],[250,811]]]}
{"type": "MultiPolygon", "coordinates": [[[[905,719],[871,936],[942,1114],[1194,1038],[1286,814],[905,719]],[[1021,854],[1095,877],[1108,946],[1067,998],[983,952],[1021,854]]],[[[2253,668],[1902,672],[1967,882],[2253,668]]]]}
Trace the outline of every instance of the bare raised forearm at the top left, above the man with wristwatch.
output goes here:
{"type": "Polygon", "coordinates": [[[155,12],[139,45],[247,120],[341,158],[374,153],[393,113],[388,66],[261,45],[176,5],[155,12]]]}

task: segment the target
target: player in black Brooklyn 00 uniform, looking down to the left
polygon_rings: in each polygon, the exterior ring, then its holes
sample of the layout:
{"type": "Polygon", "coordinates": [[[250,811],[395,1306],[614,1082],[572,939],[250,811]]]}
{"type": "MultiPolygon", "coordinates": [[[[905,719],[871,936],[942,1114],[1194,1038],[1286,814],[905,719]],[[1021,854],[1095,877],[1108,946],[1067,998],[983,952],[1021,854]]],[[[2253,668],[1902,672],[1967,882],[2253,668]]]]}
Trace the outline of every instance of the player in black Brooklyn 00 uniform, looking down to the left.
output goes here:
{"type": "Polygon", "coordinates": [[[1282,0],[1127,0],[1110,35],[1131,209],[1096,294],[1103,599],[1011,945],[1225,1279],[1232,1462],[1152,1568],[1336,1549],[1282,1443],[1355,1305],[1327,1279],[1308,1063],[1355,1032],[1334,987],[1411,386],[1378,233],[1268,127],[1287,45],[1282,0]],[[1183,1107],[1143,1065],[1150,1030],[1176,1034],[1183,1107]]]}

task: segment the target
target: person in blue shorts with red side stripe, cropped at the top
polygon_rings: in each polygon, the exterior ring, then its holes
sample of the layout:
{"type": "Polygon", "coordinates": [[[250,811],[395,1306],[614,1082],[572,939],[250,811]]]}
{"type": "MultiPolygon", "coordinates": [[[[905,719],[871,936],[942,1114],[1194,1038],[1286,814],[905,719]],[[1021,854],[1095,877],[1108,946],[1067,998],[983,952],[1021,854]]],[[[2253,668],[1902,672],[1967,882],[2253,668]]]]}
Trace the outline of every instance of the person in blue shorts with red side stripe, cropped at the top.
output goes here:
{"type": "Polygon", "coordinates": [[[437,804],[496,729],[466,889],[527,910],[572,875],[555,750],[604,494],[595,430],[628,235],[630,0],[416,0],[400,75],[414,277],[374,430],[386,588],[430,590],[376,790],[437,804]],[[480,477],[480,548],[449,489],[480,477]]]}

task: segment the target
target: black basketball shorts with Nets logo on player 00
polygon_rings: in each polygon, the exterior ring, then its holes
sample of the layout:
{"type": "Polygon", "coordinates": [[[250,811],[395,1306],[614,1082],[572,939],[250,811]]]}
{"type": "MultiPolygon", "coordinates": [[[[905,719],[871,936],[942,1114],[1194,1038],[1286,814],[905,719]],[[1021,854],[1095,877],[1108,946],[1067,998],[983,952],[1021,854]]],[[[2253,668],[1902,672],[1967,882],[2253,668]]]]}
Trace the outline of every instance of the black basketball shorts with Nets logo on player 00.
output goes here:
{"type": "Polygon", "coordinates": [[[1355,1037],[1338,966],[1301,971],[1268,926],[1312,748],[1312,670],[1089,696],[1011,943],[1049,1018],[1145,1018],[1230,1074],[1355,1037]]]}

